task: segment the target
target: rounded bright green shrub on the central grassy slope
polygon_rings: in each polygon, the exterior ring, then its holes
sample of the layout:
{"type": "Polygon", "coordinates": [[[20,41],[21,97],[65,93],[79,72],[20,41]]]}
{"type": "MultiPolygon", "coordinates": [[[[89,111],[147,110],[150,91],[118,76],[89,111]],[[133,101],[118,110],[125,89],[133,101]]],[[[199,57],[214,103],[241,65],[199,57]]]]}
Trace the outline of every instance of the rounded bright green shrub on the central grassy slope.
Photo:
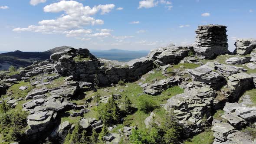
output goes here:
{"type": "Polygon", "coordinates": [[[152,98],[148,98],[147,96],[141,96],[139,98],[138,109],[145,113],[153,111],[157,108],[156,102],[152,98]]]}

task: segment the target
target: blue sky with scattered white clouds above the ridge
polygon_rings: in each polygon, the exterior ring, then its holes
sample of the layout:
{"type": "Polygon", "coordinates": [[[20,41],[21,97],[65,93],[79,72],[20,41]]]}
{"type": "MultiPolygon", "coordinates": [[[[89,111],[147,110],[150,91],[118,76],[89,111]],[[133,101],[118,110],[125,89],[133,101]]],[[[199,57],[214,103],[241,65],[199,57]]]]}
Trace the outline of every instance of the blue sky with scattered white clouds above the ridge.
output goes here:
{"type": "Polygon", "coordinates": [[[256,38],[256,0],[0,0],[0,51],[151,50],[194,43],[199,25],[256,38]]]}

